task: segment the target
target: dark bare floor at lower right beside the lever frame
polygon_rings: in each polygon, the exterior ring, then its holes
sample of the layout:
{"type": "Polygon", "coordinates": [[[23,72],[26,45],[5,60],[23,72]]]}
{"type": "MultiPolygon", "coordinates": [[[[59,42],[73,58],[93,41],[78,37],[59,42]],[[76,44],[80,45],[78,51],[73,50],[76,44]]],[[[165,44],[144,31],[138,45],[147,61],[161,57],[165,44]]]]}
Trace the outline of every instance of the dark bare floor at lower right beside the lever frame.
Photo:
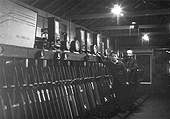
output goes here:
{"type": "Polygon", "coordinates": [[[170,119],[170,92],[152,94],[133,112],[127,111],[112,119],[170,119]]]}

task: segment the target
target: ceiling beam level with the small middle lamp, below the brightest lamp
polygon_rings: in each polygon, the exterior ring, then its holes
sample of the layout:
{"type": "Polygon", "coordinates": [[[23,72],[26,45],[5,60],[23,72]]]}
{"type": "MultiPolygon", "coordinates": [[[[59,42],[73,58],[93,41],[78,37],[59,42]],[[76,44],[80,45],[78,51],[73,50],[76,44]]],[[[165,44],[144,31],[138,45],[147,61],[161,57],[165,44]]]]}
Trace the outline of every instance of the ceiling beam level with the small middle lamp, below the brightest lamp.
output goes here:
{"type": "MultiPolygon", "coordinates": [[[[92,30],[122,30],[122,29],[129,29],[131,25],[124,25],[124,26],[104,26],[104,27],[94,27],[90,28],[92,30]]],[[[168,24],[152,24],[152,25],[138,25],[139,29],[144,28],[162,28],[162,27],[169,27],[168,24]]]]}

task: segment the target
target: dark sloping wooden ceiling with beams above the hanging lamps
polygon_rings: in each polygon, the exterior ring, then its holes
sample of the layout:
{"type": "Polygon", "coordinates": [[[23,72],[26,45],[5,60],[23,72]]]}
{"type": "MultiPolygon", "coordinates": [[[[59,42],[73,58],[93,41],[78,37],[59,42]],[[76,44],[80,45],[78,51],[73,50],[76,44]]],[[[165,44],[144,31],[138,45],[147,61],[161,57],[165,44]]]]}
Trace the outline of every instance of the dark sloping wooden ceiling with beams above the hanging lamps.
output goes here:
{"type": "MultiPolygon", "coordinates": [[[[139,34],[169,34],[170,0],[19,0],[33,7],[70,20],[108,37],[129,36],[135,21],[139,34]],[[111,8],[119,4],[124,16],[119,18],[111,8]]],[[[133,35],[139,35],[138,33],[133,35]]]]}

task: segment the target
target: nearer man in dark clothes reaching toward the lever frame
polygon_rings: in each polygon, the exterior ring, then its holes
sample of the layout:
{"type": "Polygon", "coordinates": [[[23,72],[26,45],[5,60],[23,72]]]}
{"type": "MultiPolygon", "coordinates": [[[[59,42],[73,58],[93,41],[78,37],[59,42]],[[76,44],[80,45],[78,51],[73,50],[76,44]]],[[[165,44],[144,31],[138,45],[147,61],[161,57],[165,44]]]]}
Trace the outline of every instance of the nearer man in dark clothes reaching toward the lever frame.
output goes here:
{"type": "Polygon", "coordinates": [[[109,72],[113,77],[113,90],[115,94],[115,103],[120,107],[121,112],[124,112],[127,105],[127,91],[126,91],[126,73],[127,69],[122,61],[118,60],[116,52],[111,52],[109,62],[105,62],[109,68],[109,72]]]}

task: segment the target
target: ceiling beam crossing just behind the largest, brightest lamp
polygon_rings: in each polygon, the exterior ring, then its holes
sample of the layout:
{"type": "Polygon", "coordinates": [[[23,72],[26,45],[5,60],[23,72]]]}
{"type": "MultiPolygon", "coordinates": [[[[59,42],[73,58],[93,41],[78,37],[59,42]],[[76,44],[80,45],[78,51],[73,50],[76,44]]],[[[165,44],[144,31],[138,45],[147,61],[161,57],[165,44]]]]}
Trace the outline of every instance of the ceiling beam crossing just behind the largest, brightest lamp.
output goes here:
{"type": "MultiPolygon", "coordinates": [[[[155,16],[155,15],[168,15],[170,9],[156,9],[156,10],[142,10],[135,12],[126,12],[123,17],[140,17],[140,16],[155,16]]],[[[96,18],[112,18],[113,13],[94,13],[94,14],[80,14],[80,15],[67,15],[68,20],[73,19],[96,19],[96,18]]]]}

